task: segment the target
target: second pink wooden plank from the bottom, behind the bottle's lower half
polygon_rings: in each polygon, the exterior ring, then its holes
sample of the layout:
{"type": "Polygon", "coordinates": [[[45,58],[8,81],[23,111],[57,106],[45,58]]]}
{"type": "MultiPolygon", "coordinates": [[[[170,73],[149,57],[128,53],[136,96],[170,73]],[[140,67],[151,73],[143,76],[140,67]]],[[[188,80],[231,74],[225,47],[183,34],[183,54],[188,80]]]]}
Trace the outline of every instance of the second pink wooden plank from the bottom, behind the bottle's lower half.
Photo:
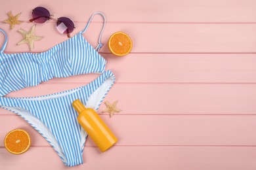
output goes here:
{"type": "MultiPolygon", "coordinates": [[[[119,139],[118,146],[188,145],[256,146],[256,116],[171,116],[171,115],[101,115],[119,139]]],[[[16,128],[32,134],[32,146],[49,146],[19,116],[1,115],[0,139],[16,128]]],[[[0,141],[3,146],[3,140],[0,141]]],[[[87,145],[95,145],[89,138],[87,145]]]]}

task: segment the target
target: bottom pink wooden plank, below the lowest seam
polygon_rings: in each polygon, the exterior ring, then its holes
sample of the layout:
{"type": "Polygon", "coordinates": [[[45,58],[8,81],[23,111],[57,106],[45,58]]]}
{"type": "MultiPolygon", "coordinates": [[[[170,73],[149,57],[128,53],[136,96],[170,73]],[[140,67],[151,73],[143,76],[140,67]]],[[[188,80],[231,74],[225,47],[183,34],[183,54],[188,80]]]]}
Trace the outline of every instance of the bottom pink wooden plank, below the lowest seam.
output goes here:
{"type": "MultiPolygon", "coordinates": [[[[75,169],[254,170],[255,157],[255,147],[114,146],[104,153],[85,147],[84,163],[75,169]]],[[[31,147],[19,156],[0,148],[0,169],[14,170],[17,167],[28,170],[65,168],[50,147],[31,147]]]]}

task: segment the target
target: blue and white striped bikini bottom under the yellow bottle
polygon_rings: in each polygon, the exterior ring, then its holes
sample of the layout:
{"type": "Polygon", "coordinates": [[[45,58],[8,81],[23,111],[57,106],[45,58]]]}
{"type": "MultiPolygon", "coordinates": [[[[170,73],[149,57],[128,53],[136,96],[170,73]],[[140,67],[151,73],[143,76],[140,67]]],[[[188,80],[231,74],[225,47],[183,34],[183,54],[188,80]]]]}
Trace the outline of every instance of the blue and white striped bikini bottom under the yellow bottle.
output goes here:
{"type": "Polygon", "coordinates": [[[86,86],[39,97],[0,97],[0,107],[24,118],[53,146],[66,166],[83,163],[87,133],[77,122],[72,107],[75,99],[86,107],[98,110],[112,87],[115,76],[106,71],[86,86]]]}

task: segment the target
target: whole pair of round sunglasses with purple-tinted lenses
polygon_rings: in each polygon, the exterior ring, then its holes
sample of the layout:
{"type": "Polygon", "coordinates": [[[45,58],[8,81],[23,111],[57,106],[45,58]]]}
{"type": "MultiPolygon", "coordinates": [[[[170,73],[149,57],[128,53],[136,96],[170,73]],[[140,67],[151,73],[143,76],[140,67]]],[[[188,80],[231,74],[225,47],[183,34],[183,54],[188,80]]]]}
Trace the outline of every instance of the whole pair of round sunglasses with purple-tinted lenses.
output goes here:
{"type": "Polygon", "coordinates": [[[67,34],[68,38],[70,38],[70,33],[72,33],[75,28],[74,22],[66,17],[55,18],[50,14],[49,10],[44,7],[36,7],[32,10],[32,19],[30,19],[30,22],[43,24],[50,19],[56,21],[56,28],[60,33],[67,34]]]}

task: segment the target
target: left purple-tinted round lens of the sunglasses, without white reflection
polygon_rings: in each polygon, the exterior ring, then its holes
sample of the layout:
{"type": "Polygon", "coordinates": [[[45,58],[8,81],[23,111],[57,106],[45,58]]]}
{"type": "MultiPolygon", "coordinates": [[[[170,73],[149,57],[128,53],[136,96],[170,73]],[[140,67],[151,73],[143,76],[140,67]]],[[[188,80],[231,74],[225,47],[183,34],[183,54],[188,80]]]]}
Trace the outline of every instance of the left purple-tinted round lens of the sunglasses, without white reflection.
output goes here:
{"type": "Polygon", "coordinates": [[[50,12],[43,7],[36,7],[33,9],[32,18],[34,22],[42,24],[50,19],[50,12]]]}

